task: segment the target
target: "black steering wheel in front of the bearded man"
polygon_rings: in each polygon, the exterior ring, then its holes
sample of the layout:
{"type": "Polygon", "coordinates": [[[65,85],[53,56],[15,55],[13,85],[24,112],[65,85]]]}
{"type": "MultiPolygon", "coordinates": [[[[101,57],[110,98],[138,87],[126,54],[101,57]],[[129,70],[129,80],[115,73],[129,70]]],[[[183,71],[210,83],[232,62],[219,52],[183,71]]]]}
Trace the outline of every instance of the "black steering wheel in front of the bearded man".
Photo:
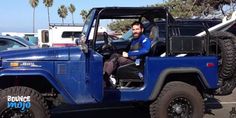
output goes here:
{"type": "Polygon", "coordinates": [[[110,56],[117,51],[117,48],[111,44],[111,41],[109,41],[108,37],[108,34],[103,32],[104,44],[97,49],[98,53],[102,54],[103,56],[110,56]]]}

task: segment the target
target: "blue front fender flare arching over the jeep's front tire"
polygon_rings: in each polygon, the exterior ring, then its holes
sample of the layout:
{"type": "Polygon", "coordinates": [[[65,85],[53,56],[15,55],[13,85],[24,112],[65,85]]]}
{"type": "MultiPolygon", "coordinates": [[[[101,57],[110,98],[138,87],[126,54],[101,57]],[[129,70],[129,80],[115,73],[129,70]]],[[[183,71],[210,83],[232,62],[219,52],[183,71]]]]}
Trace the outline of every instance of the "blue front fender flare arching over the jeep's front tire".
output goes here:
{"type": "Polygon", "coordinates": [[[47,79],[47,81],[59,92],[61,93],[66,102],[70,104],[75,104],[74,100],[72,99],[71,95],[66,91],[63,85],[55,79],[55,77],[45,71],[43,69],[26,69],[26,68],[11,68],[11,69],[4,69],[0,71],[0,77],[4,76],[27,76],[27,75],[35,75],[35,76],[43,76],[47,79]]]}

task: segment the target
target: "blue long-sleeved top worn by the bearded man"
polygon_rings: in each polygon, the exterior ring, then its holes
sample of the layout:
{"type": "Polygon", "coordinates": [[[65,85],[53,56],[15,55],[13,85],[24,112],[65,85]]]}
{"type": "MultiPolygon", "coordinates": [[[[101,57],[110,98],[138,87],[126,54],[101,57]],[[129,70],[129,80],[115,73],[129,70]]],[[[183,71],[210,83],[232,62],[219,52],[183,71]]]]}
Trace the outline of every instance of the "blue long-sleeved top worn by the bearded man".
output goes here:
{"type": "Polygon", "coordinates": [[[144,54],[147,54],[151,48],[151,40],[147,38],[145,35],[141,35],[138,39],[133,39],[131,42],[131,46],[136,45],[139,43],[139,49],[138,50],[130,50],[128,52],[128,56],[136,56],[140,57],[144,54]]]}

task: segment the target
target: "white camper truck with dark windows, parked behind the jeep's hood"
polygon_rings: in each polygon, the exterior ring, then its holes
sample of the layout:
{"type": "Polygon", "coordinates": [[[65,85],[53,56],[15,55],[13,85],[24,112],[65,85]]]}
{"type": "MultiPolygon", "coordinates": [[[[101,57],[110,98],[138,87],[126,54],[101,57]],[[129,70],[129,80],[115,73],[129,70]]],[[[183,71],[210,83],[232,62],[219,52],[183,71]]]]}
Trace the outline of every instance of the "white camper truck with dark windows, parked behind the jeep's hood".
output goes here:
{"type": "Polygon", "coordinates": [[[82,29],[82,25],[50,24],[49,29],[38,30],[39,47],[73,46],[82,29]]]}

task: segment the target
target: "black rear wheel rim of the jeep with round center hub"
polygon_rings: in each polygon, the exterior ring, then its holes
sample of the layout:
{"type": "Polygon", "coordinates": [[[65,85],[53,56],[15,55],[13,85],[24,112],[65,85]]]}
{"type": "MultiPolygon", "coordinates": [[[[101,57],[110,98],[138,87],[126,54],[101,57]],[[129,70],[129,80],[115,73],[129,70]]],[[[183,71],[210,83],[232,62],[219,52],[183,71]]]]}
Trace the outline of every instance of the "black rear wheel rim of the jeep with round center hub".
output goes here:
{"type": "Polygon", "coordinates": [[[177,97],[171,100],[168,106],[169,118],[191,118],[193,106],[191,102],[184,97],[177,97]]]}

